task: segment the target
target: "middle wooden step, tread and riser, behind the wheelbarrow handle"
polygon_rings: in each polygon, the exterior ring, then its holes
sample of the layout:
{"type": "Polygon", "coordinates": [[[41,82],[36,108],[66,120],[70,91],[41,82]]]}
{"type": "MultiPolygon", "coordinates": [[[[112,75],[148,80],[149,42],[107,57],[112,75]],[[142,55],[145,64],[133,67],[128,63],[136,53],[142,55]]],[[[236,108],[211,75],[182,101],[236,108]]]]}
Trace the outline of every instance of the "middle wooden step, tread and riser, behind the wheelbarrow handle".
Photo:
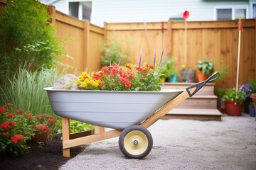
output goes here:
{"type": "Polygon", "coordinates": [[[217,108],[217,96],[205,95],[205,96],[193,96],[187,98],[176,106],[176,108],[217,108]]]}

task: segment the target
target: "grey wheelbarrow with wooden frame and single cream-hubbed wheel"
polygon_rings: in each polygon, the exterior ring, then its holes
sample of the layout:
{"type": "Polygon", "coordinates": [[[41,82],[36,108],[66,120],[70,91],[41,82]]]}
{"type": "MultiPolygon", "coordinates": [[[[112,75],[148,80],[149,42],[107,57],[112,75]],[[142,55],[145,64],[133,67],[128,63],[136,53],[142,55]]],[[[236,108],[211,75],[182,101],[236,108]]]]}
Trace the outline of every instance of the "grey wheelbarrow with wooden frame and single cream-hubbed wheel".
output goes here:
{"type": "Polygon", "coordinates": [[[205,81],[184,90],[161,91],[83,91],[45,88],[50,105],[63,120],[63,156],[70,148],[119,136],[119,149],[131,159],[146,157],[153,147],[146,128],[169,113],[205,84],[218,79],[215,72],[205,81]],[[95,125],[94,130],[70,134],[69,120],[95,125]],[[114,130],[105,131],[105,128],[114,130]]]}

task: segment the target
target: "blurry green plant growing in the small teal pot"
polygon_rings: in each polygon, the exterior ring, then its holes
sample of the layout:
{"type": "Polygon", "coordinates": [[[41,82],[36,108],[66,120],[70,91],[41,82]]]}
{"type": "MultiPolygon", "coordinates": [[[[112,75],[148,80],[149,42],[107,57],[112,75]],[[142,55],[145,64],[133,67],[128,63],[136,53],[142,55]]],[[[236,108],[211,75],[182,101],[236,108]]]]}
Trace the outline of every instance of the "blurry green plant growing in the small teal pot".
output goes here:
{"type": "Polygon", "coordinates": [[[165,77],[177,76],[178,72],[176,69],[176,57],[171,57],[164,60],[163,67],[161,68],[161,74],[164,74],[165,77]]]}

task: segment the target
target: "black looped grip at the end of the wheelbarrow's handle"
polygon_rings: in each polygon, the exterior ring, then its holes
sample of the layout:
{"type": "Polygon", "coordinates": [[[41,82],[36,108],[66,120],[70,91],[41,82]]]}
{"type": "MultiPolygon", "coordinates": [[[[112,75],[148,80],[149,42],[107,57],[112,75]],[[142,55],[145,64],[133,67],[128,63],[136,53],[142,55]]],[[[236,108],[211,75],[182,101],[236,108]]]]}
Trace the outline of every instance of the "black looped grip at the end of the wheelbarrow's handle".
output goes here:
{"type": "Polygon", "coordinates": [[[208,79],[206,79],[205,81],[201,81],[201,82],[199,82],[199,83],[197,83],[197,84],[192,84],[191,86],[188,86],[187,88],[186,88],[186,91],[188,92],[188,94],[189,94],[189,96],[193,96],[194,94],[196,94],[196,92],[197,91],[199,91],[204,85],[206,85],[208,82],[210,82],[210,81],[214,81],[215,79],[218,79],[218,77],[220,77],[220,73],[219,72],[215,72],[215,73],[213,73],[210,77],[208,77],[208,79]],[[217,75],[217,76],[216,76],[217,75]],[[193,91],[193,92],[191,92],[190,91],[190,89],[193,89],[193,88],[195,88],[196,87],[196,89],[193,91]]]}

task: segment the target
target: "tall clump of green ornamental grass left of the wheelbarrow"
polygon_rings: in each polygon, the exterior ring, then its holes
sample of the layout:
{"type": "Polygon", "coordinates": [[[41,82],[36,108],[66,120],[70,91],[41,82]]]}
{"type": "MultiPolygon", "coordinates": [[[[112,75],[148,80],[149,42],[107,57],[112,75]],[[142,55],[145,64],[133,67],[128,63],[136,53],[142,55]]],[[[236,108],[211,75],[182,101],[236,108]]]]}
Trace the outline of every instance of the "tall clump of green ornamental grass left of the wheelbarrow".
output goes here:
{"type": "Polygon", "coordinates": [[[38,69],[31,72],[27,67],[19,67],[16,74],[7,77],[6,87],[0,87],[1,103],[16,103],[31,113],[47,113],[58,119],[50,107],[46,91],[43,88],[53,86],[62,74],[57,69],[38,69]]]}

